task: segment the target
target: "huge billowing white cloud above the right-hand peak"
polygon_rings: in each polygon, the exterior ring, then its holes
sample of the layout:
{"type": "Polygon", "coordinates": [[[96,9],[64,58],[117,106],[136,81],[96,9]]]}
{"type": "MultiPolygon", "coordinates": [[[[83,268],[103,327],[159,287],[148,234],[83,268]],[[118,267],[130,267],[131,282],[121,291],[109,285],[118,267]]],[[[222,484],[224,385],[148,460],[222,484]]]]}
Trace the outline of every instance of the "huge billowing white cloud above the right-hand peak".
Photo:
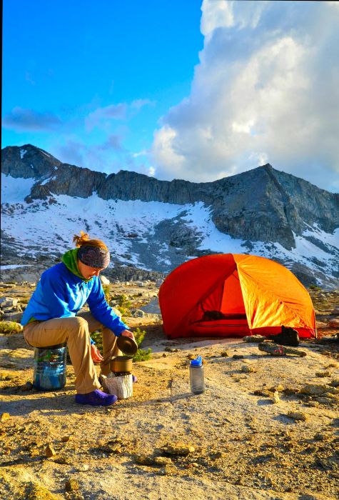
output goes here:
{"type": "Polygon", "coordinates": [[[338,189],[337,5],[203,0],[191,94],[154,134],[158,176],[211,181],[270,162],[338,189]]]}

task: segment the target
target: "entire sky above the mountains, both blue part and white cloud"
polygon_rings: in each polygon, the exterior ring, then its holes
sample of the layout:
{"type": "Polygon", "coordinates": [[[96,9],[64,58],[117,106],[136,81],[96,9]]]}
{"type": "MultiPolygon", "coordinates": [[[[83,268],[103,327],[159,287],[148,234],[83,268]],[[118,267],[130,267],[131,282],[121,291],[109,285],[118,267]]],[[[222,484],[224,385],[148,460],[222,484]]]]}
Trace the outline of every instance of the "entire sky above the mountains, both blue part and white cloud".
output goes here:
{"type": "Polygon", "coordinates": [[[339,2],[4,0],[2,147],[339,191],[339,2]]]}

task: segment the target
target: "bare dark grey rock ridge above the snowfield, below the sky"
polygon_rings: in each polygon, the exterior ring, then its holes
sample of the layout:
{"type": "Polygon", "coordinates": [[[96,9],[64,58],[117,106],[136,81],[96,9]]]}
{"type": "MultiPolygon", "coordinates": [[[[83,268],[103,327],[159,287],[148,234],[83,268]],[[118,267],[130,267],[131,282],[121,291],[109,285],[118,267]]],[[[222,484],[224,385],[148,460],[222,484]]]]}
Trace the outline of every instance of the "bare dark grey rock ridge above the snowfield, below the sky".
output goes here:
{"type": "MultiPolygon", "coordinates": [[[[308,226],[333,232],[339,226],[339,196],[303,179],[273,169],[270,164],[219,179],[195,183],[174,179],[158,181],[131,171],[106,175],[61,163],[46,151],[26,144],[3,150],[2,172],[15,178],[36,179],[26,201],[66,194],[86,198],[94,191],[102,199],[161,201],[211,207],[219,231],[234,238],[275,241],[286,249],[295,246],[294,234],[308,226]]],[[[175,237],[175,235],[174,235],[175,237]]]]}

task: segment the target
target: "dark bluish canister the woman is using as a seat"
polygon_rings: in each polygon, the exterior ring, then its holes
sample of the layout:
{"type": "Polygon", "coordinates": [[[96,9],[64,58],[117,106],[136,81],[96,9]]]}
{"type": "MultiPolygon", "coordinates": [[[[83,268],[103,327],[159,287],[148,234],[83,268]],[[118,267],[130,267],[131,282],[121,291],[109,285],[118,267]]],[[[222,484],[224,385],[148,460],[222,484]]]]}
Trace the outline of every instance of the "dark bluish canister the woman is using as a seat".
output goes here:
{"type": "Polygon", "coordinates": [[[66,384],[66,344],[34,347],[33,386],[44,391],[62,389],[66,384]]]}

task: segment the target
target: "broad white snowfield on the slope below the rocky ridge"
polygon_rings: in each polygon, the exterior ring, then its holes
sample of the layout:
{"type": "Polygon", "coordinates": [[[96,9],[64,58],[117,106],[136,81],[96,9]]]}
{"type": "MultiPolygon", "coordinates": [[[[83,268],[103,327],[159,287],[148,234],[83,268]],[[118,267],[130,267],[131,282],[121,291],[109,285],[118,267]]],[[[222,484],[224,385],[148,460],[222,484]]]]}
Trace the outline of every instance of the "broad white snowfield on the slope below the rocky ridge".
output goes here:
{"type": "MultiPolygon", "coordinates": [[[[45,179],[41,185],[56,177],[45,179]]],[[[31,192],[34,179],[13,179],[2,174],[2,201],[15,204],[24,200],[31,192]]],[[[157,225],[163,221],[180,224],[192,229],[196,234],[197,249],[211,253],[233,253],[264,256],[282,261],[291,268],[293,262],[299,262],[308,268],[321,270],[332,276],[339,260],[339,228],[333,234],[325,233],[318,226],[308,226],[303,235],[295,237],[295,248],[285,249],[278,243],[252,241],[251,248],[242,239],[234,239],[216,229],[211,218],[211,208],[202,202],[196,204],[169,204],[160,201],[122,201],[103,200],[93,192],[88,198],[67,195],[54,196],[56,203],[48,205],[40,200],[32,204],[16,205],[10,215],[4,214],[2,226],[5,234],[15,241],[22,241],[24,231],[24,249],[31,254],[38,251],[36,235],[39,234],[39,251],[60,254],[73,247],[74,234],[81,230],[93,238],[103,239],[111,249],[112,256],[121,263],[128,263],[146,269],[153,259],[153,267],[159,263],[171,271],[173,248],[168,246],[166,234],[162,239],[155,239],[157,225]],[[46,235],[46,236],[45,236],[46,235]],[[317,246],[316,241],[328,246],[317,246]],[[142,245],[153,255],[143,261],[142,245]],[[141,252],[141,253],[140,253],[141,252]],[[320,268],[319,268],[320,265],[320,268]]],[[[19,254],[18,249],[17,253],[19,254]]],[[[192,259],[194,256],[186,257],[192,259]]]]}

